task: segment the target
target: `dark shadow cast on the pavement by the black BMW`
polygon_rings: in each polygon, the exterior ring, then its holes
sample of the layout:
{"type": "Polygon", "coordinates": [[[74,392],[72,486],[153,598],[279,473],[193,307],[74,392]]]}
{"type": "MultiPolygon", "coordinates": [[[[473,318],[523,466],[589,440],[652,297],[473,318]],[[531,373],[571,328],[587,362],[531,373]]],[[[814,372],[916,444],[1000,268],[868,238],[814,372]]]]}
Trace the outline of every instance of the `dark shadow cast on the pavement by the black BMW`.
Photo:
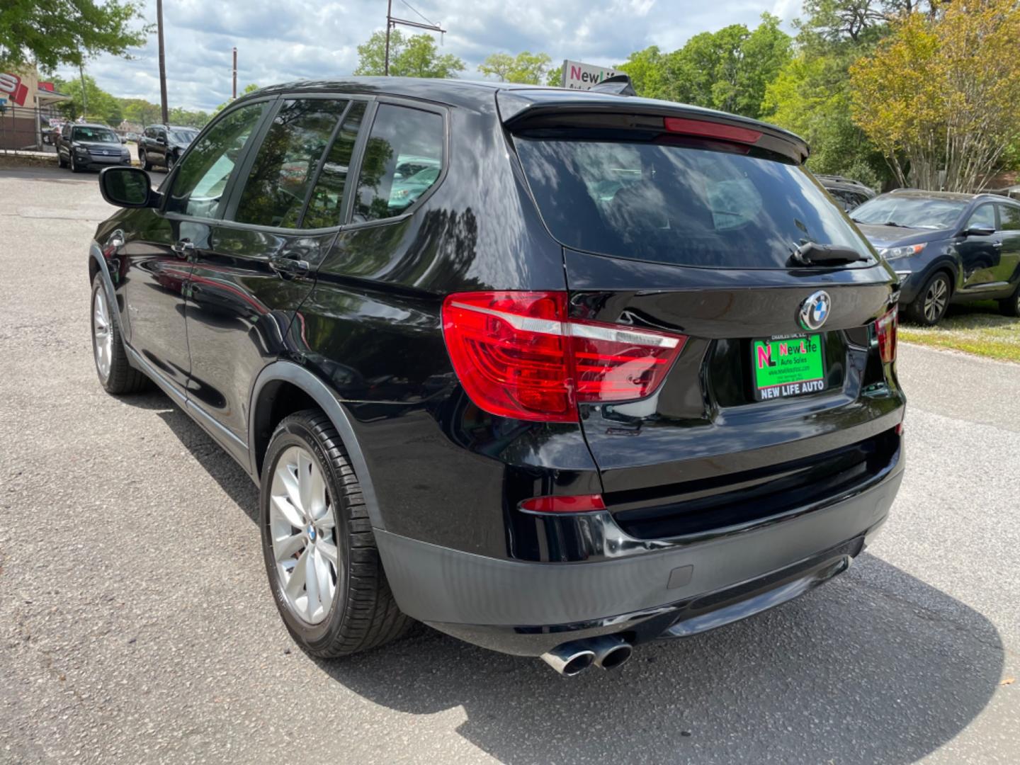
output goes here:
{"type": "MultiPolygon", "coordinates": [[[[251,479],[184,412],[160,394],[149,398],[136,401],[162,409],[184,446],[254,519],[251,479]]],[[[421,716],[394,736],[413,741],[416,724],[430,735],[440,723],[427,716],[462,709],[457,732],[506,763],[909,763],[984,708],[1004,653],[984,616],[864,553],[846,574],[796,601],[711,632],[640,646],[612,671],[561,677],[541,660],[431,629],[350,659],[314,661],[370,702],[421,716]]]]}

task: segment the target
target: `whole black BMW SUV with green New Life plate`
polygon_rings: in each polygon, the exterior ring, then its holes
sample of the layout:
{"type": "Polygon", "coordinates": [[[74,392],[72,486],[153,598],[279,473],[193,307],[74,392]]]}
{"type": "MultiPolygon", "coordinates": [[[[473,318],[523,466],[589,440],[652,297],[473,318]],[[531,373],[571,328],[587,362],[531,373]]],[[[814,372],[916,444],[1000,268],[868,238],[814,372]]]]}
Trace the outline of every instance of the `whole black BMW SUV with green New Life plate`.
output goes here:
{"type": "Polygon", "coordinates": [[[158,191],[103,173],[99,378],[260,487],[306,651],[615,666],[844,571],[896,497],[896,277],[807,155],[610,93],[264,89],[158,191]]]}

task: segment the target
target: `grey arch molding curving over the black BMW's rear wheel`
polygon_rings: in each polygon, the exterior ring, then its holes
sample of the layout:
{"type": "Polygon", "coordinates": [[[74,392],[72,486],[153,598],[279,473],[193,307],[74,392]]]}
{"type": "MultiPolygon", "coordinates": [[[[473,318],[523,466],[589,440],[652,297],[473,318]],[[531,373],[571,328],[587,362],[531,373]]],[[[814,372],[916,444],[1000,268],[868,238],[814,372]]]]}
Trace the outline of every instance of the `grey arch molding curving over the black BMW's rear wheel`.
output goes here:
{"type": "Polygon", "coordinates": [[[256,482],[260,480],[263,458],[274,425],[272,422],[273,405],[285,387],[292,390],[297,389],[310,399],[311,403],[321,409],[333,422],[344,444],[344,449],[347,451],[347,456],[351,460],[354,472],[358,476],[368,518],[375,528],[386,528],[372,478],[368,472],[368,464],[354,431],[350,414],[319,377],[291,361],[279,360],[265,366],[255,378],[255,385],[252,386],[248,417],[249,472],[252,478],[256,482]]]}

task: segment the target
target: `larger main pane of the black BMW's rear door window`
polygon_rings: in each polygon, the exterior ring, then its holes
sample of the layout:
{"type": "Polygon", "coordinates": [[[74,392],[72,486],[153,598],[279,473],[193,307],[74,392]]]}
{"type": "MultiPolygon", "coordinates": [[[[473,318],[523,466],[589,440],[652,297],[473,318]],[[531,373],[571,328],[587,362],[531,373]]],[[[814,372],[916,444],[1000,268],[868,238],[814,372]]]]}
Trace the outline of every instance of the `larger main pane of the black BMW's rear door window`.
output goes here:
{"type": "MultiPolygon", "coordinates": [[[[235,219],[296,228],[319,160],[347,101],[285,101],[245,182],[235,219]]],[[[339,222],[339,221],[338,221],[339,222]]]]}

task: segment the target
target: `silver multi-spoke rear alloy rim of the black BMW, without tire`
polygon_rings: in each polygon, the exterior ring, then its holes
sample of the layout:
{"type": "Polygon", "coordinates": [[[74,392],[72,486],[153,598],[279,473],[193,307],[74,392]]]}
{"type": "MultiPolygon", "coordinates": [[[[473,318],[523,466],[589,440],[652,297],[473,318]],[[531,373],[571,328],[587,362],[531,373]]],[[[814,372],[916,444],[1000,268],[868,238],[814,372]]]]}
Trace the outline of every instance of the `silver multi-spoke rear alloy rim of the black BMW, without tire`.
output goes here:
{"type": "Polygon", "coordinates": [[[322,471],[303,447],[288,448],[276,461],[269,536],[288,606],[318,624],[328,616],[337,591],[337,527],[322,471]]]}

